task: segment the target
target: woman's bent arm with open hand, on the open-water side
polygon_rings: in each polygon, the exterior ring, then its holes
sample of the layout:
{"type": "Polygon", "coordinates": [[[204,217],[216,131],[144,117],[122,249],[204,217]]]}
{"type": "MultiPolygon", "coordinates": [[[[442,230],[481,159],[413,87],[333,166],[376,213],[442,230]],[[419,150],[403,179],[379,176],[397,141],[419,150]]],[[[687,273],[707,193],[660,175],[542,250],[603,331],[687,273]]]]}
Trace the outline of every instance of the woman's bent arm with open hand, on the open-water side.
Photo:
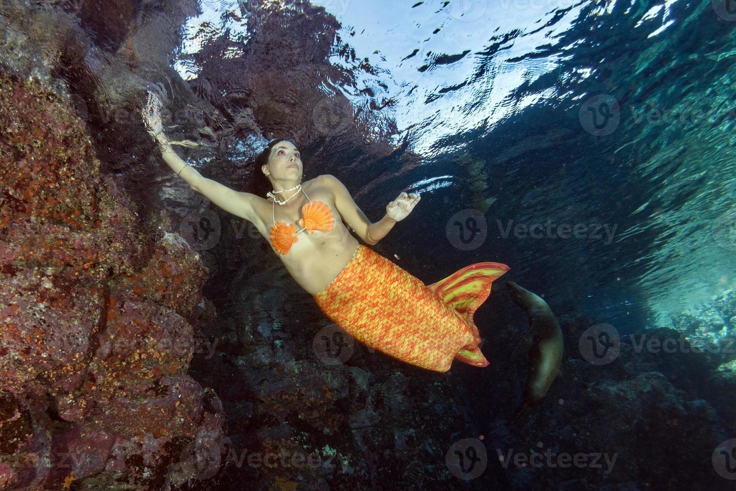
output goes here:
{"type": "Polygon", "coordinates": [[[355,204],[350,192],[347,191],[344,184],[332,174],[323,174],[322,179],[326,185],[333,191],[335,195],[335,206],[344,222],[355,230],[366,244],[378,244],[387,233],[394,227],[396,222],[400,222],[411,213],[419,200],[419,194],[401,193],[397,199],[386,205],[386,215],[378,222],[372,223],[365,213],[355,204]]]}

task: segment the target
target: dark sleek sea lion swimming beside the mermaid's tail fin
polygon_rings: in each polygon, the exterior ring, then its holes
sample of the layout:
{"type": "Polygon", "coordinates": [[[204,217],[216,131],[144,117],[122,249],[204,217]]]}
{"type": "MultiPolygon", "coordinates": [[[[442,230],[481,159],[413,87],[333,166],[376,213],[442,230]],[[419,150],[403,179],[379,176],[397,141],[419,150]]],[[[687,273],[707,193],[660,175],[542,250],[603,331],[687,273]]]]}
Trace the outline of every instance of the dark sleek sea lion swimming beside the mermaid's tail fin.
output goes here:
{"type": "Polygon", "coordinates": [[[529,375],[524,400],[509,420],[512,425],[518,425],[531,416],[529,409],[539,406],[559,373],[564,344],[559,322],[542,298],[512,281],[507,281],[506,287],[514,303],[526,311],[534,335],[534,345],[529,348],[529,375]]]}

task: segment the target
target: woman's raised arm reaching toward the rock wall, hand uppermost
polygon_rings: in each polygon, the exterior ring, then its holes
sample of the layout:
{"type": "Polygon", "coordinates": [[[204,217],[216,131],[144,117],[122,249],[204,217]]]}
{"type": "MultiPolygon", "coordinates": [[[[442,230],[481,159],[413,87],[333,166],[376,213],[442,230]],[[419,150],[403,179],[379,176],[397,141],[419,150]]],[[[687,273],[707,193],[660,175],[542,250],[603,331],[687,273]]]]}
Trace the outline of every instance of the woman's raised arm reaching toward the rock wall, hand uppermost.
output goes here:
{"type": "MultiPolygon", "coordinates": [[[[255,212],[253,211],[253,203],[258,197],[251,193],[241,193],[230,189],[227,186],[203,177],[197,172],[197,169],[188,165],[182,160],[177,152],[171,147],[169,138],[163,133],[163,124],[160,118],[160,98],[157,94],[149,91],[148,102],[143,111],[144,121],[148,127],[149,133],[158,142],[161,149],[163,160],[169,164],[171,170],[176,172],[179,177],[194,189],[194,191],[203,194],[210,199],[211,202],[218,205],[224,211],[233,213],[253,222],[255,212]]],[[[186,142],[174,142],[177,144],[186,144],[186,142]]]]}

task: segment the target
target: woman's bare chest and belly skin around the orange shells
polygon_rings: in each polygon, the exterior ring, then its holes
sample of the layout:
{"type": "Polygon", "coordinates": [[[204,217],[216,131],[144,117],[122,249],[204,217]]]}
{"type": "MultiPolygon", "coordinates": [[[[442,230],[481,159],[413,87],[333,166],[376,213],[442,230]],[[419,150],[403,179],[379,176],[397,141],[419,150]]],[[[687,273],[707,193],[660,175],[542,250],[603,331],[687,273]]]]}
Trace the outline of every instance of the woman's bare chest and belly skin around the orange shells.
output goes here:
{"type": "MultiPolygon", "coordinates": [[[[335,226],[329,232],[297,233],[297,242],[291,245],[289,254],[274,253],[281,259],[291,277],[309,294],[315,294],[325,289],[330,282],[342,271],[353,258],[358,248],[355,239],[342,222],[342,217],[335,206],[335,197],[324,181],[318,177],[302,183],[302,189],[312,201],[321,201],[330,207],[335,216],[335,226]]],[[[291,196],[285,193],[280,199],[291,196]]],[[[307,197],[300,191],[286,205],[275,205],[276,221],[286,222],[286,225],[297,223],[301,215],[302,206],[308,203],[307,197]]],[[[255,220],[253,224],[258,232],[271,244],[272,199],[258,199],[253,205],[255,220]]],[[[297,229],[298,229],[297,225],[297,229]]],[[[273,250],[273,244],[271,244],[273,250]]]]}

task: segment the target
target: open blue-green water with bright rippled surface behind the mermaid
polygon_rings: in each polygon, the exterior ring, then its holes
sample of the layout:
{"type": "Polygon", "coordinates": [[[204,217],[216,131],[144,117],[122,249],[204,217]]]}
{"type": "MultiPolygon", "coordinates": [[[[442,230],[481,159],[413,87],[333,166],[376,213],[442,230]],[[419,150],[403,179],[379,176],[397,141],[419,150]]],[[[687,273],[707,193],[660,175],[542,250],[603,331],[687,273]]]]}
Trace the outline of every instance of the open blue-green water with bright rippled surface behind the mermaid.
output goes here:
{"type": "MultiPolygon", "coordinates": [[[[191,29],[236,7],[202,4],[191,29]]],[[[338,161],[305,169],[333,169],[369,216],[400,191],[421,192],[381,246],[422,280],[503,262],[559,310],[623,331],[668,325],[736,285],[723,228],[736,210],[727,11],[707,1],[314,4],[342,24],[333,51],[375,68],[333,54],[354,75],[335,90],[356,119],[372,108],[375,139],[408,142],[418,161],[372,168],[369,190],[338,161]],[[486,220],[470,250],[445,233],[463,211],[486,220]],[[524,231],[535,224],[543,233],[524,231]]]]}

